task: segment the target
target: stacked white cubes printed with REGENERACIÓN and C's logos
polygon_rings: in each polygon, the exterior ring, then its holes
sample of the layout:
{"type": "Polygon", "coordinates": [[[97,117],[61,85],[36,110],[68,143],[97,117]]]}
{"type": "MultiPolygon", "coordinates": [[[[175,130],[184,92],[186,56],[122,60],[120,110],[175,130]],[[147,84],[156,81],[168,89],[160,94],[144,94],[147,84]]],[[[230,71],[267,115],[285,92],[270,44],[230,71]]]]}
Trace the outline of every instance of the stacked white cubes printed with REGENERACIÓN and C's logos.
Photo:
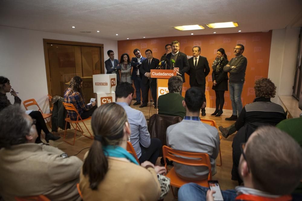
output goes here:
{"type": "Polygon", "coordinates": [[[115,102],[116,74],[96,74],[92,76],[92,80],[98,106],[115,102]]]}

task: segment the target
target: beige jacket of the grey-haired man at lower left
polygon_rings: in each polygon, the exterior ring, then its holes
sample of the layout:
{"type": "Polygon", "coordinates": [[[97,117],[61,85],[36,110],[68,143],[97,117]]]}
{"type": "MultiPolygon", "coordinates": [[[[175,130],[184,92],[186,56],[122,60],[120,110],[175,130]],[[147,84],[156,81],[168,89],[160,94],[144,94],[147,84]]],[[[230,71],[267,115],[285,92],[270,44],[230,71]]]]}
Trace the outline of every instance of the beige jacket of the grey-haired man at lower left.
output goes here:
{"type": "Polygon", "coordinates": [[[60,157],[63,151],[53,146],[25,143],[0,150],[0,195],[43,194],[50,200],[81,200],[76,188],[82,161],[60,157]]]}

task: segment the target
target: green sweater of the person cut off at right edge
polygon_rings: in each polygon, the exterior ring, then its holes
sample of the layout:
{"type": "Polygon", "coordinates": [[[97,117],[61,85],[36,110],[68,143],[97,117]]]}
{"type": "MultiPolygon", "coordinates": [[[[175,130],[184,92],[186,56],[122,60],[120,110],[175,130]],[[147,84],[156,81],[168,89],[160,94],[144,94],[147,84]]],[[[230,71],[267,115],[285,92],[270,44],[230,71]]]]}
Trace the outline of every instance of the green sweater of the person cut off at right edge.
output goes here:
{"type": "MultiPolygon", "coordinates": [[[[288,133],[302,147],[302,116],[299,118],[285,119],[276,125],[280,130],[288,133]]],[[[294,193],[302,194],[302,182],[294,193]]]]}

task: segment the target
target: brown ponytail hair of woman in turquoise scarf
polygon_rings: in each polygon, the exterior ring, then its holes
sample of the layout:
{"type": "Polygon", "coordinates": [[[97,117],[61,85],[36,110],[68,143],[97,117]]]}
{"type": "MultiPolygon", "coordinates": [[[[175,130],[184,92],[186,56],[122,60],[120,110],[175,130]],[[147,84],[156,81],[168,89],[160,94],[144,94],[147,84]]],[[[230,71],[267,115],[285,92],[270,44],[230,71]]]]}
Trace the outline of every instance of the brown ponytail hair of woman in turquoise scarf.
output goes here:
{"type": "Polygon", "coordinates": [[[119,145],[123,140],[126,122],[124,108],[116,103],[101,105],[93,112],[91,127],[95,140],[83,164],[83,174],[88,175],[92,190],[98,189],[98,184],[108,171],[108,160],[102,146],[119,145]]]}

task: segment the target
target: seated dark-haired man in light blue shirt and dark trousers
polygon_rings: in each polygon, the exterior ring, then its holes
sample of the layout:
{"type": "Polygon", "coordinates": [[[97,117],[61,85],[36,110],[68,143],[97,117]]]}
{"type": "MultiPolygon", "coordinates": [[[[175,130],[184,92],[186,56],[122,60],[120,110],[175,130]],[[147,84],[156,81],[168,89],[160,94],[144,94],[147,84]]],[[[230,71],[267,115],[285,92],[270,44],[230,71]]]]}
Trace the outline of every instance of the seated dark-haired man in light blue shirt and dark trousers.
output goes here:
{"type": "Polygon", "coordinates": [[[116,103],[126,111],[131,128],[130,142],[140,163],[150,161],[155,165],[162,149],[162,143],[157,138],[150,139],[147,121],[143,112],[129,106],[133,93],[134,89],[130,83],[121,82],[115,88],[116,103]]]}

